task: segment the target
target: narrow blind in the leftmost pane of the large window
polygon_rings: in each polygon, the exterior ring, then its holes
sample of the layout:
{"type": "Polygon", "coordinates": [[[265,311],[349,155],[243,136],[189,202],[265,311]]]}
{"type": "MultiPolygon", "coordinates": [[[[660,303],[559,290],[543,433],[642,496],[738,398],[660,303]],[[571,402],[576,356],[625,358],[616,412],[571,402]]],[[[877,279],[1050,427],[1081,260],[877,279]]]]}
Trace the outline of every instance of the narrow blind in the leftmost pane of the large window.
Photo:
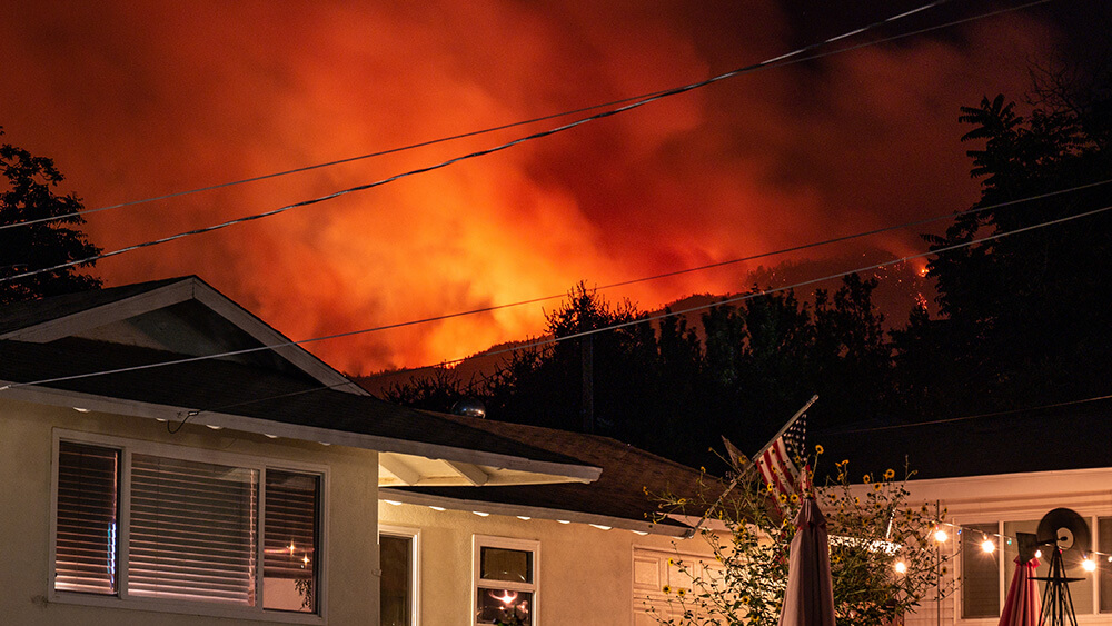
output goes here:
{"type": "Polygon", "coordinates": [[[120,451],[60,441],[54,589],[115,595],[120,451]]]}

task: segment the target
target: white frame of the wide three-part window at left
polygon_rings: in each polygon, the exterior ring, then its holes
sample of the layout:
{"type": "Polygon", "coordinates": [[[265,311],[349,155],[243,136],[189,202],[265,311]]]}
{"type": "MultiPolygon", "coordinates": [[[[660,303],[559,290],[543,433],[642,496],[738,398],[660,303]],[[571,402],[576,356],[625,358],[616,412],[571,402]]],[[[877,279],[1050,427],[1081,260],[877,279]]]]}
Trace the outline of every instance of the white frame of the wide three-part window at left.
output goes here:
{"type": "Polygon", "coordinates": [[[324,465],[291,461],[271,457],[244,455],[237,453],[225,453],[210,450],[207,448],[195,448],[173,444],[160,444],[140,439],[128,439],[109,435],[98,435],[81,433],[76,430],[54,429],[53,449],[50,464],[50,555],[47,567],[47,599],[60,604],[77,604],[87,606],[100,606],[112,608],[125,608],[136,610],[151,610],[158,613],[176,613],[187,615],[201,615],[209,617],[225,617],[238,619],[256,619],[281,624],[325,624],[327,623],[326,608],[328,606],[328,564],[321,558],[328,554],[328,467],[324,465]],[[96,595],[75,592],[58,590],[54,588],[54,564],[57,563],[58,541],[58,458],[62,441],[85,444],[91,446],[102,446],[120,450],[120,479],[118,526],[117,526],[117,576],[119,577],[118,592],[116,595],[96,595]],[[151,598],[138,598],[129,596],[127,593],[128,578],[128,537],[130,536],[130,503],[131,503],[131,455],[153,455],[169,457],[197,463],[209,463],[227,465],[247,469],[259,470],[259,514],[257,524],[259,526],[257,563],[259,564],[259,576],[257,577],[257,594],[259,600],[256,606],[228,606],[220,604],[209,604],[205,602],[182,602],[165,600],[151,598]],[[262,599],[262,558],[264,558],[264,528],[266,521],[266,470],[285,470],[304,474],[312,474],[319,477],[318,507],[319,519],[317,528],[317,546],[319,555],[317,557],[317,588],[315,589],[317,612],[314,614],[291,613],[276,609],[264,609],[262,599]]]}

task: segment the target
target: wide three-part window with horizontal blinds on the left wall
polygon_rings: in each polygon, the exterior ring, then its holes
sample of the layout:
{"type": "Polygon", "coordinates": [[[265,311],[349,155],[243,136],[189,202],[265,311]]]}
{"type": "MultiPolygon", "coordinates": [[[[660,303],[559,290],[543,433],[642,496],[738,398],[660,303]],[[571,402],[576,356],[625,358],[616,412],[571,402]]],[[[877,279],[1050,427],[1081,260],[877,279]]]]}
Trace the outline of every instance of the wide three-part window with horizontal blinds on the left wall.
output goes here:
{"type": "Polygon", "coordinates": [[[317,613],[322,474],[97,439],[58,440],[56,594],[317,613]]]}

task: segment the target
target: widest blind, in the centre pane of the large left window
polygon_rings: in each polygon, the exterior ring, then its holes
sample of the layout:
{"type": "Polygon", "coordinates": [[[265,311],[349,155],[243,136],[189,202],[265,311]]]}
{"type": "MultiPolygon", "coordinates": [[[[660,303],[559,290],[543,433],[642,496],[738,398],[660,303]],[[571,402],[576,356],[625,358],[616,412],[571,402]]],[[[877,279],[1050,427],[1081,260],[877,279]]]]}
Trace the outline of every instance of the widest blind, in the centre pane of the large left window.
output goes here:
{"type": "Polygon", "coordinates": [[[255,606],[257,469],[135,454],[128,594],[255,606]]]}

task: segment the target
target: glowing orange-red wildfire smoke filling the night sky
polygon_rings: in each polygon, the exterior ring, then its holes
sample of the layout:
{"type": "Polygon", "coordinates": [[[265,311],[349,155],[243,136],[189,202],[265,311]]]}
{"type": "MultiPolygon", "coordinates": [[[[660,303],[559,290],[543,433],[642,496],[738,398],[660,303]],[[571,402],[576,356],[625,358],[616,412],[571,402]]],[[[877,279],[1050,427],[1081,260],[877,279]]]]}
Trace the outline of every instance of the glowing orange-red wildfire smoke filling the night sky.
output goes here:
{"type": "MultiPolygon", "coordinates": [[[[798,3],[26,3],[0,19],[0,125],[3,141],[54,158],[63,191],[98,208],[701,80],[800,46],[808,18],[791,6],[798,3]]],[[[306,339],[946,213],[976,197],[957,107],[1023,91],[1026,59],[1060,40],[1043,18],[1010,13],[735,78],[497,155],[107,259],[97,271],[109,286],[196,274],[306,339]]],[[[564,121],[105,211],[89,217],[87,231],[113,250],[564,121]]],[[[863,247],[903,256],[922,249],[915,235],[763,265],[860,259],[863,247]]],[[[607,296],[653,309],[693,292],[744,290],[754,269],[729,266],[607,296]]],[[[536,335],[543,324],[542,307],[532,306],[307,347],[358,374],[467,356],[536,335]]]]}

